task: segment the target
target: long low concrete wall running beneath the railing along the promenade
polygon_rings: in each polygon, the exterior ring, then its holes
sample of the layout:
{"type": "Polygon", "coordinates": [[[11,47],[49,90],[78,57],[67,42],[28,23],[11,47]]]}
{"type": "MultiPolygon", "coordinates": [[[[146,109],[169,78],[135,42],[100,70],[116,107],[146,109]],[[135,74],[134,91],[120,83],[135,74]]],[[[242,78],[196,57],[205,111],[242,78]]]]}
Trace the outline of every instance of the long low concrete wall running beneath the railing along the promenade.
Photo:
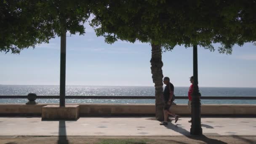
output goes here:
{"type": "MultiPolygon", "coordinates": [[[[51,104],[0,104],[0,115],[40,116],[42,107],[51,104]]],[[[155,115],[155,104],[79,104],[80,116],[111,115],[155,115]]],[[[190,115],[187,105],[177,104],[171,107],[179,115],[190,115]]],[[[203,104],[201,115],[209,116],[256,116],[256,104],[203,104]]]]}

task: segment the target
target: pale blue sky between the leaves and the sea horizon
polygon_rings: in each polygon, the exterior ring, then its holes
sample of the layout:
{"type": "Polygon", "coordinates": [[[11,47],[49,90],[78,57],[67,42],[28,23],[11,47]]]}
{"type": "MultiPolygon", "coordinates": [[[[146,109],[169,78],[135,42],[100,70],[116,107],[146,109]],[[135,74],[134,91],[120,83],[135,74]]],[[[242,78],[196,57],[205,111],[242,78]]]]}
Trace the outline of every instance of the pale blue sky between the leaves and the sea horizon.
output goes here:
{"type": "MultiPolygon", "coordinates": [[[[67,33],[66,85],[154,86],[149,43],[117,41],[110,45],[85,24],[85,35],[67,33]]],[[[256,46],[234,46],[232,55],[198,48],[200,87],[256,87],[256,46]]],[[[164,52],[163,75],[174,86],[190,85],[192,48],[164,52]]],[[[0,53],[0,84],[59,85],[60,37],[20,54],[0,53]]]]}

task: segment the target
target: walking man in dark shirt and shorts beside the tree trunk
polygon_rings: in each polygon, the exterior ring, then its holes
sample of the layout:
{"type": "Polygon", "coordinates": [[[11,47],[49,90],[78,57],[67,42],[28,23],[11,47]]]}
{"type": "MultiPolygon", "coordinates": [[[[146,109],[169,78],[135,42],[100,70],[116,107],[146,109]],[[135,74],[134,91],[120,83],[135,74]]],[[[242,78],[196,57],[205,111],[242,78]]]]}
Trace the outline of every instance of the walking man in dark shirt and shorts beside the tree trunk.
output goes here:
{"type": "Polygon", "coordinates": [[[163,83],[166,85],[163,91],[163,98],[165,102],[164,108],[163,108],[164,121],[163,123],[160,123],[160,125],[168,125],[168,121],[167,121],[168,115],[175,117],[175,123],[178,121],[179,115],[175,115],[169,110],[174,100],[173,99],[174,86],[172,83],[170,83],[170,78],[164,77],[163,83]]]}

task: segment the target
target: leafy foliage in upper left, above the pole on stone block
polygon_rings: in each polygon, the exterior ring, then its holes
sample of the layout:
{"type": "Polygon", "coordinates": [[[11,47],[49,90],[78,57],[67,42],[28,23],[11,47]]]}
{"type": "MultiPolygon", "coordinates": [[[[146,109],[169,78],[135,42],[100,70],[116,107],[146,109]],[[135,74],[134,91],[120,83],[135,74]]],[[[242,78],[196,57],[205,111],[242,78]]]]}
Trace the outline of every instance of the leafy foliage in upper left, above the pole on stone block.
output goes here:
{"type": "Polygon", "coordinates": [[[0,51],[19,53],[24,48],[48,43],[61,34],[85,33],[90,1],[80,0],[3,0],[0,5],[0,51]]]}

